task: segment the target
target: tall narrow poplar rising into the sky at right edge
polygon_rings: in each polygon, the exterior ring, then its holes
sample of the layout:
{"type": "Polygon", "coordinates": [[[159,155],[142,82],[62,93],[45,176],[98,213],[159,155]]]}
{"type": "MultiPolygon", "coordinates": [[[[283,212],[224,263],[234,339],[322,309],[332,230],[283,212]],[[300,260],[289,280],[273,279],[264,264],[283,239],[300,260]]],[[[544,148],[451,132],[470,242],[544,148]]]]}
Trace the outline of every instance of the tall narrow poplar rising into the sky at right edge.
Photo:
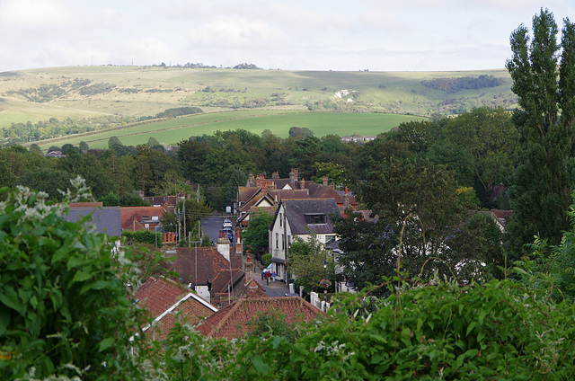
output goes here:
{"type": "Polygon", "coordinates": [[[519,109],[514,115],[521,137],[521,160],[513,173],[509,199],[514,210],[508,248],[517,258],[535,235],[559,244],[569,227],[567,210],[573,185],[575,118],[575,27],[565,19],[562,39],[553,13],[533,18],[533,37],[520,25],[510,37],[507,61],[519,109]]]}

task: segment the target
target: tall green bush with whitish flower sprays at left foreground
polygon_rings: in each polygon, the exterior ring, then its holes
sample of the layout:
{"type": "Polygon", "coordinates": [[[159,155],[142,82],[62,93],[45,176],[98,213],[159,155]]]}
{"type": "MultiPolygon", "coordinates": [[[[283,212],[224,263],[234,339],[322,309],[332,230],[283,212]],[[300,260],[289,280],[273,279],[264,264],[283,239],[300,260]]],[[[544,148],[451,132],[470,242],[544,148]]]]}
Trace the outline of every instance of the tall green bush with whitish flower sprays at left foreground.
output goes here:
{"type": "Polygon", "coordinates": [[[131,379],[144,320],[120,253],[46,196],[20,188],[0,203],[1,378],[131,379]]]}

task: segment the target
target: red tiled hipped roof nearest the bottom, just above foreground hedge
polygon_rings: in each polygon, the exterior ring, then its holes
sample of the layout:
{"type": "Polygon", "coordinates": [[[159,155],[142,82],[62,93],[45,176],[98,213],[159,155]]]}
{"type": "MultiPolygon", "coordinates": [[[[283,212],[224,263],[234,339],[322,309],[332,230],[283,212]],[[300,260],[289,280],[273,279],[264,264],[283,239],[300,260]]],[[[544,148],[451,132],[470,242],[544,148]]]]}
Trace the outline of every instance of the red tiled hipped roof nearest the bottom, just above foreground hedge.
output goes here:
{"type": "Polygon", "coordinates": [[[228,340],[243,337],[250,332],[250,320],[271,310],[278,310],[285,315],[286,322],[290,324],[301,320],[309,322],[323,315],[322,311],[301,297],[242,298],[199,323],[197,330],[207,337],[228,340]]]}

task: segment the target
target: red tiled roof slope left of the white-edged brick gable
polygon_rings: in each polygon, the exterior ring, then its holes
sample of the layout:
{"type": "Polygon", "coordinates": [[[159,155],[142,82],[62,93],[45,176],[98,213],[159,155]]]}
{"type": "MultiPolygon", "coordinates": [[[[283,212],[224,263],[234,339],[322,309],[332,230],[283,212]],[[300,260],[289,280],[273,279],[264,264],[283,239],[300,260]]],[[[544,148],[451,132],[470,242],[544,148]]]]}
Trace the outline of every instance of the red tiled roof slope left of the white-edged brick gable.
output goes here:
{"type": "Polygon", "coordinates": [[[188,292],[189,290],[172,279],[150,277],[142,286],[137,288],[134,299],[137,300],[137,306],[146,309],[151,317],[156,317],[173,306],[188,292]]]}

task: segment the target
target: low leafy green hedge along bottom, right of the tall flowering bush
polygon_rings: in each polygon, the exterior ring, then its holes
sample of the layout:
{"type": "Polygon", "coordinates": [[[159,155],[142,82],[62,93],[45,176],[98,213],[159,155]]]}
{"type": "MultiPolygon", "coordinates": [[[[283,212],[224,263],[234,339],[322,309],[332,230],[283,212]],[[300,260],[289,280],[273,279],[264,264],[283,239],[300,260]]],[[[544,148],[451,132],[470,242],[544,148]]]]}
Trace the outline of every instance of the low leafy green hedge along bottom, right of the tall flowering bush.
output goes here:
{"type": "Polygon", "coordinates": [[[410,289],[371,306],[371,313],[363,296],[335,304],[326,321],[309,326],[295,342],[282,336],[210,341],[209,357],[205,339],[182,326],[171,336],[170,353],[173,346],[188,351],[166,356],[165,366],[173,379],[575,377],[573,306],[537,301],[508,280],[410,289]]]}

